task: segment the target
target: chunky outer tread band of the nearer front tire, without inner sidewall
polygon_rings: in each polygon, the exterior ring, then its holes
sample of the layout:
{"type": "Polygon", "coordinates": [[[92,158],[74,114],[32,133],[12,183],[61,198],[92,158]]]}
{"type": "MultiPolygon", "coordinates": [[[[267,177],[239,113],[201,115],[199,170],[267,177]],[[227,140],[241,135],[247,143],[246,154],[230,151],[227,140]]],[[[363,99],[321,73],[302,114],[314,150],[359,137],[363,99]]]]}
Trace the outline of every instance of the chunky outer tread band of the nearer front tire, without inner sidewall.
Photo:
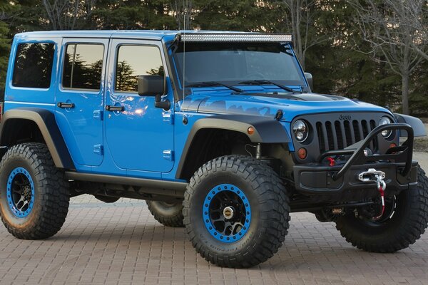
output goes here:
{"type": "Polygon", "coordinates": [[[265,162],[245,155],[226,155],[206,162],[190,179],[183,202],[184,223],[193,247],[205,260],[223,267],[248,268],[266,261],[281,247],[289,227],[289,202],[285,185],[265,162]],[[262,204],[265,204],[265,207],[261,207],[263,211],[260,213],[265,232],[258,237],[254,244],[246,248],[245,255],[239,254],[235,257],[227,254],[213,254],[204,244],[198,242],[188,214],[196,185],[210,172],[226,170],[238,174],[252,183],[262,204]]]}

